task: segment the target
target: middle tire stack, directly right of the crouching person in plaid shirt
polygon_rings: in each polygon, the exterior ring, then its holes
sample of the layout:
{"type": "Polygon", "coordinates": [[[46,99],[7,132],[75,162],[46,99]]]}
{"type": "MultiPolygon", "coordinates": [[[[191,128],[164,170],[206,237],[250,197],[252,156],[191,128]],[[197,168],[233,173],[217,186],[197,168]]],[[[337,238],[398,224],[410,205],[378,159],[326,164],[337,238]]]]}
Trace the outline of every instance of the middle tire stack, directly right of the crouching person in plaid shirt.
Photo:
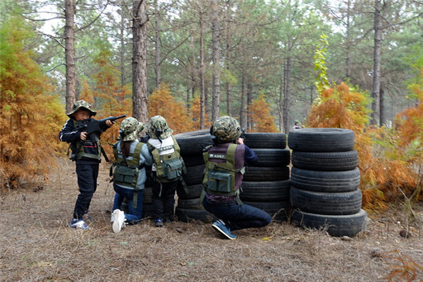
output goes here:
{"type": "Polygon", "coordinates": [[[240,200],[264,210],[274,220],[288,219],[290,150],[285,133],[245,133],[245,145],[259,161],[247,166],[240,200]]]}

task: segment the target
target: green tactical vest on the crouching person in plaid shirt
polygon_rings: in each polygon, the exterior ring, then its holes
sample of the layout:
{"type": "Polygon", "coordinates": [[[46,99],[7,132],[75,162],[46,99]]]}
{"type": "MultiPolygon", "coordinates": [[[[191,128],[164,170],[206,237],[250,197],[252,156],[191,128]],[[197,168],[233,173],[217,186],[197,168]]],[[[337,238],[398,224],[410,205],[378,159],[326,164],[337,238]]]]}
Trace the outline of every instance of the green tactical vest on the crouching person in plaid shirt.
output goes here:
{"type": "Polygon", "coordinates": [[[235,174],[245,172],[245,166],[241,169],[235,169],[235,150],[237,145],[230,144],[226,154],[213,154],[203,152],[204,164],[206,164],[204,178],[202,184],[206,191],[216,196],[236,196],[237,202],[240,204],[240,189],[235,191],[235,174]],[[224,159],[224,163],[216,163],[209,159],[224,159]]]}

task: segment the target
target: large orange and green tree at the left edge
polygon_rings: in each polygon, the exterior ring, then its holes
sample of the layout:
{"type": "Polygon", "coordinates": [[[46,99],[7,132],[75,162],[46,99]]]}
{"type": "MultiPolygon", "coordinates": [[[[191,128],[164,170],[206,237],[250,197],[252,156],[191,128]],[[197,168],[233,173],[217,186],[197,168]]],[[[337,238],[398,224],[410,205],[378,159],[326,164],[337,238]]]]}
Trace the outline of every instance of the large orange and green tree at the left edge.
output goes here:
{"type": "Polygon", "coordinates": [[[0,27],[0,190],[47,180],[66,149],[57,137],[66,116],[25,46],[31,36],[18,17],[0,27]]]}

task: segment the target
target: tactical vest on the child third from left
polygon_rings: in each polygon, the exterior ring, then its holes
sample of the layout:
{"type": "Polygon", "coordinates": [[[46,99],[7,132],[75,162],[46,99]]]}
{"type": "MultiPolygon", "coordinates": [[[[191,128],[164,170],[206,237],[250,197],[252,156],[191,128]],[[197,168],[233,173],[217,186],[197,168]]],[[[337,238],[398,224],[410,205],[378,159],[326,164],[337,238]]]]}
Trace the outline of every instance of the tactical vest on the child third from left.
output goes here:
{"type": "Polygon", "coordinates": [[[152,153],[154,164],[157,168],[157,180],[162,183],[168,183],[180,179],[184,169],[183,159],[180,157],[180,147],[172,136],[173,145],[156,148],[147,143],[149,152],[152,153]],[[170,154],[160,154],[168,149],[173,149],[170,154]]]}

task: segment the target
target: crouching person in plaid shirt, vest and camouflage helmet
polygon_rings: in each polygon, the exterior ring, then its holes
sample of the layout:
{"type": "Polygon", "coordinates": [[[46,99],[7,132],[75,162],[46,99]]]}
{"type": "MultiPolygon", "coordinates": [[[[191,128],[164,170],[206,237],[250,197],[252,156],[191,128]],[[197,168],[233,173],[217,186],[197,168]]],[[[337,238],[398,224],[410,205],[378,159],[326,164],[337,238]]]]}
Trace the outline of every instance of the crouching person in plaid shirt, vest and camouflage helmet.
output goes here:
{"type": "Polygon", "coordinates": [[[225,238],[233,240],[237,236],[231,231],[266,226],[271,216],[240,201],[245,165],[256,164],[258,158],[240,138],[238,121],[231,116],[221,116],[214,121],[210,134],[214,145],[203,153],[206,193],[202,204],[207,212],[219,219],[212,227],[225,238]]]}

